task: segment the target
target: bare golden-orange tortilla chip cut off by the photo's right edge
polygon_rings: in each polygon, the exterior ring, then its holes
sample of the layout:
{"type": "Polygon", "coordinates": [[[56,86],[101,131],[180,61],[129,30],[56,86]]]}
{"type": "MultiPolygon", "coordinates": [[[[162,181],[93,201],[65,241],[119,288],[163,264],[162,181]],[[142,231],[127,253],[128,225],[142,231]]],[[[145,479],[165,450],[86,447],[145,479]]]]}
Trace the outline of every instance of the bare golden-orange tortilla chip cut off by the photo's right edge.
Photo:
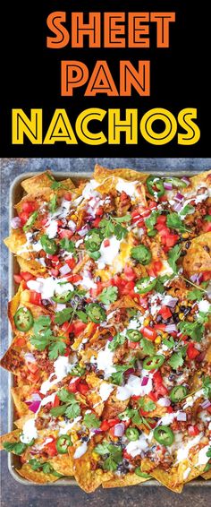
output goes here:
{"type": "Polygon", "coordinates": [[[201,234],[191,241],[188,253],[183,260],[184,271],[188,275],[211,271],[211,232],[201,234]]]}

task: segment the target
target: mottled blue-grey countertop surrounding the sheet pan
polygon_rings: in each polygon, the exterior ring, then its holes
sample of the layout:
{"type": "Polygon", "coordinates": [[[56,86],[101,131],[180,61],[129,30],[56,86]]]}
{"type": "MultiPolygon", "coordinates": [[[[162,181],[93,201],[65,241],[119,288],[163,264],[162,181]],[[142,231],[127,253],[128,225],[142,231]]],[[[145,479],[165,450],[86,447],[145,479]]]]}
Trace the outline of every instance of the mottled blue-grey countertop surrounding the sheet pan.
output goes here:
{"type": "MultiPolygon", "coordinates": [[[[21,173],[42,171],[51,168],[55,171],[82,172],[91,171],[96,163],[108,168],[134,168],[145,172],[150,170],[206,170],[211,168],[211,159],[0,159],[1,177],[1,235],[8,234],[9,189],[13,179],[21,173]]],[[[1,355],[7,348],[7,301],[8,301],[8,260],[7,249],[1,241],[2,293],[1,293],[1,355]]],[[[7,432],[7,381],[6,372],[1,372],[1,413],[2,433],[7,432]]],[[[153,507],[204,507],[210,498],[208,486],[185,486],[182,494],[174,494],[163,486],[133,486],[111,490],[97,490],[94,494],[85,494],[76,486],[22,486],[16,482],[7,469],[7,456],[2,454],[2,507],[44,507],[49,502],[52,507],[92,507],[101,504],[115,504],[119,507],[138,506],[141,503],[153,507]]]]}

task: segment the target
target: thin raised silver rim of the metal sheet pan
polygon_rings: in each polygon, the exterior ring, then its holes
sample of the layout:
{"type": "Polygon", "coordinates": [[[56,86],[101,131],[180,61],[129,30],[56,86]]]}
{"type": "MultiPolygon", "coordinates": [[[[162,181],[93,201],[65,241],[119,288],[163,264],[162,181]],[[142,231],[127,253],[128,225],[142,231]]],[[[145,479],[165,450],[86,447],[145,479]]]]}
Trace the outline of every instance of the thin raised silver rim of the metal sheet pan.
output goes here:
{"type": "MultiPolygon", "coordinates": [[[[136,169],[134,169],[136,170],[136,169]]],[[[25,179],[28,179],[32,176],[38,176],[40,174],[42,174],[44,171],[36,171],[36,172],[32,172],[32,171],[29,171],[27,173],[21,173],[20,175],[16,176],[14,179],[13,179],[13,183],[10,185],[10,194],[9,194],[9,231],[11,231],[11,219],[13,218],[13,215],[14,215],[14,204],[16,204],[16,202],[14,202],[14,199],[15,199],[15,191],[18,189],[18,187],[21,186],[21,182],[25,179]]],[[[91,171],[83,171],[83,172],[76,172],[76,171],[52,171],[55,178],[56,179],[64,179],[66,177],[70,177],[72,179],[72,181],[74,182],[74,180],[80,180],[80,179],[89,179],[90,176],[93,175],[93,172],[91,171]]],[[[145,171],[139,171],[139,172],[145,172],[145,171]]],[[[159,170],[152,170],[152,171],[147,171],[148,174],[152,174],[152,175],[156,175],[156,176],[164,176],[164,172],[163,171],[159,171],[159,170]]],[[[203,171],[198,171],[198,170],[178,170],[178,171],[166,171],[165,172],[165,175],[167,176],[196,176],[200,173],[203,173],[205,172],[204,170],[203,171]]],[[[21,190],[21,188],[19,188],[19,190],[21,190]]],[[[22,193],[24,193],[24,191],[22,190],[22,193]]],[[[8,261],[8,285],[9,285],[9,288],[8,288],[8,296],[9,296],[9,300],[12,299],[13,295],[14,295],[14,283],[13,283],[13,273],[14,273],[14,255],[13,253],[9,252],[9,261],[8,261]]],[[[10,326],[10,323],[8,322],[8,346],[10,346],[11,342],[12,342],[12,339],[13,339],[13,331],[11,329],[11,326],[10,326]]],[[[9,388],[9,393],[11,393],[11,388],[13,387],[13,374],[9,374],[9,379],[8,379],[8,388],[9,388]]],[[[13,417],[14,415],[14,407],[13,407],[13,399],[12,399],[12,396],[10,394],[9,396],[9,400],[8,400],[8,431],[11,432],[13,431],[13,417]]],[[[34,483],[34,482],[31,482],[31,481],[28,481],[27,479],[24,479],[23,477],[21,477],[19,475],[19,473],[16,471],[16,469],[14,468],[14,456],[13,454],[8,454],[8,469],[9,469],[9,472],[10,474],[12,475],[13,479],[16,480],[18,483],[24,485],[24,486],[77,486],[77,483],[75,481],[75,479],[73,477],[69,477],[69,478],[61,478],[61,479],[58,479],[58,481],[56,481],[55,483],[47,483],[46,485],[38,485],[37,483],[34,483]]],[[[139,486],[139,485],[138,485],[139,486]]],[[[162,484],[160,484],[158,481],[152,479],[152,480],[148,480],[144,483],[141,483],[140,486],[163,486],[162,484]]],[[[187,483],[185,485],[186,487],[189,486],[189,487],[196,487],[196,486],[211,486],[211,480],[207,480],[205,481],[205,479],[195,479],[193,481],[191,481],[190,483],[187,483]]]]}

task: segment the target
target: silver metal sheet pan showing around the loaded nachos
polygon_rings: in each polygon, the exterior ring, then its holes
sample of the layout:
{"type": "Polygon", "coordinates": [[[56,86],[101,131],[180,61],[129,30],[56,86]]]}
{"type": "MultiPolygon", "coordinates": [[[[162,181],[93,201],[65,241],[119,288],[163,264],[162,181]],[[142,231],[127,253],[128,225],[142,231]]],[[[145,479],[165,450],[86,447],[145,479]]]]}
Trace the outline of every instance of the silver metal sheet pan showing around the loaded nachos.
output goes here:
{"type": "MultiPolygon", "coordinates": [[[[140,171],[141,172],[141,171],[140,171]]],[[[144,171],[143,171],[144,172],[144,171]]],[[[204,172],[204,171],[190,171],[190,170],[185,170],[185,171],[177,171],[177,172],[171,172],[171,171],[166,171],[165,172],[165,175],[166,176],[194,176],[194,175],[198,175],[199,172],[204,172]]],[[[156,176],[165,176],[164,175],[164,171],[148,171],[148,173],[152,174],[152,175],[156,175],[156,176]]],[[[21,187],[21,182],[31,176],[38,176],[38,174],[41,174],[39,172],[29,172],[29,173],[24,173],[24,174],[21,174],[20,176],[17,176],[14,180],[13,180],[13,184],[11,185],[10,187],[10,210],[9,210],[9,223],[11,223],[11,219],[13,218],[13,216],[15,216],[15,211],[14,211],[14,205],[21,201],[21,197],[24,195],[24,191],[23,191],[23,188],[21,187]]],[[[92,175],[92,172],[81,172],[81,173],[76,173],[76,172],[56,172],[54,171],[54,176],[57,180],[62,180],[62,179],[65,179],[67,177],[71,177],[73,183],[78,183],[79,181],[81,180],[86,180],[86,179],[89,179],[89,177],[92,175]]],[[[11,226],[10,226],[11,228],[11,226]]],[[[15,273],[18,273],[19,271],[19,266],[18,266],[18,262],[16,261],[15,259],[15,256],[13,255],[13,253],[9,253],[9,266],[8,266],[8,274],[9,274],[9,287],[8,287],[8,296],[9,296],[9,301],[12,299],[12,297],[14,296],[15,294],[15,291],[16,291],[16,288],[15,288],[15,284],[13,282],[13,275],[15,273]]],[[[12,340],[13,340],[13,333],[12,333],[12,330],[11,330],[11,326],[9,324],[9,327],[8,327],[8,338],[9,338],[9,345],[11,344],[12,340]]],[[[13,374],[9,374],[9,392],[11,392],[11,388],[13,387],[13,382],[14,382],[14,377],[13,377],[13,374]]],[[[12,397],[11,395],[9,396],[9,404],[8,404],[8,431],[11,432],[13,431],[14,429],[14,425],[13,425],[13,421],[15,420],[15,409],[14,409],[14,406],[13,406],[13,400],[12,400],[12,397]]],[[[46,485],[37,485],[36,483],[33,483],[33,482],[30,482],[29,480],[27,479],[24,479],[23,477],[21,477],[18,472],[16,471],[16,468],[20,468],[20,459],[18,456],[15,456],[14,454],[11,454],[9,453],[8,454],[8,468],[9,468],[9,471],[11,473],[11,475],[13,476],[13,478],[21,483],[22,485],[25,485],[25,486],[49,486],[49,487],[53,487],[53,486],[77,486],[77,483],[75,481],[75,479],[73,477],[64,477],[64,478],[61,478],[61,479],[58,479],[55,483],[53,484],[46,484],[46,485]]],[[[141,487],[148,487],[148,486],[162,486],[160,483],[158,483],[156,480],[152,479],[152,480],[148,480],[147,482],[145,483],[142,483],[141,484],[141,487]]],[[[193,481],[191,481],[189,483],[189,486],[193,486],[193,487],[196,487],[196,486],[211,486],[211,480],[207,480],[205,481],[205,479],[203,478],[197,478],[193,481]]]]}

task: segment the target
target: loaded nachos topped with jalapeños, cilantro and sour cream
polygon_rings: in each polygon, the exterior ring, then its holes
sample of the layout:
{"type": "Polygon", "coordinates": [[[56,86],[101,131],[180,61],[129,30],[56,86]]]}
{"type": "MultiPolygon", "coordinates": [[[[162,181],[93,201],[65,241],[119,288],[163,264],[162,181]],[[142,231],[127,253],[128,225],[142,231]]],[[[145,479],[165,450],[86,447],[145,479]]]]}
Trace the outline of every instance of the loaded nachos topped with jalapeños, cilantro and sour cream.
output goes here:
{"type": "Polygon", "coordinates": [[[99,166],[23,181],[1,360],[22,477],[87,492],[211,477],[210,183],[99,166]]]}

